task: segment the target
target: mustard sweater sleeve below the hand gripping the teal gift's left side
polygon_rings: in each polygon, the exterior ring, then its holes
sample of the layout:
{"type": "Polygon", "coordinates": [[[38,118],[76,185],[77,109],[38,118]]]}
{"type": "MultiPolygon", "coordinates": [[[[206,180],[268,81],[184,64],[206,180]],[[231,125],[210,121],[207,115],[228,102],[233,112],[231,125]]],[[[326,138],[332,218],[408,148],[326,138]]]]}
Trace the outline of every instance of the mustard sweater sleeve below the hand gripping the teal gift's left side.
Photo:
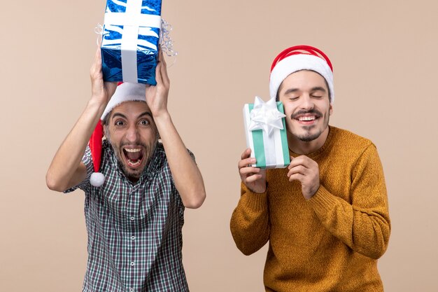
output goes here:
{"type": "Polygon", "coordinates": [[[230,228],[243,254],[248,256],[261,249],[270,232],[267,193],[253,193],[241,183],[241,197],[233,211],[230,228]]]}

